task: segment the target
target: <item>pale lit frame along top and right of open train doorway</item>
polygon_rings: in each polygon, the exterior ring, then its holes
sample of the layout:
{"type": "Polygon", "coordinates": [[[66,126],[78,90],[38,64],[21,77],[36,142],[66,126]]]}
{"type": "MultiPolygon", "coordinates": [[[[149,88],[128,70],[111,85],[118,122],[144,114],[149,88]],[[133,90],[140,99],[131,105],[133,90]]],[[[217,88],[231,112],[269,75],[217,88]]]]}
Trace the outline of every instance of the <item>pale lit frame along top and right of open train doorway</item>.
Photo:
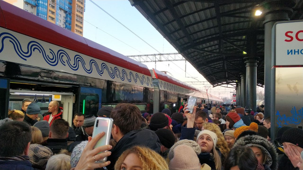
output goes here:
{"type": "MultiPolygon", "coordinates": [[[[61,99],[56,99],[61,101],[63,104],[62,118],[68,121],[70,126],[72,125],[73,119],[73,93],[61,93],[61,92],[47,92],[47,91],[30,91],[30,90],[9,90],[9,93],[21,93],[21,94],[49,94],[49,95],[59,95],[61,99]]],[[[59,97],[58,96],[58,97],[59,97]]]]}

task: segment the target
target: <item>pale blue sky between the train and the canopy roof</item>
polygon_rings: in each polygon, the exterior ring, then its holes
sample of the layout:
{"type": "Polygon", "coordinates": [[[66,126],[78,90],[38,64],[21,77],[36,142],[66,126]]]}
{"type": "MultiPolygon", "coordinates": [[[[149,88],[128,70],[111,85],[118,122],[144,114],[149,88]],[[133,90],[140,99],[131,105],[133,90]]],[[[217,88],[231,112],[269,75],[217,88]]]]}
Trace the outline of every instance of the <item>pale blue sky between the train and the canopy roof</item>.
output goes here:
{"type": "MultiPolygon", "coordinates": [[[[89,0],[85,0],[83,36],[123,55],[143,55],[160,53],[177,53],[177,50],[133,7],[128,0],[93,0],[106,12],[150,44],[146,44],[115,19],[106,14],[89,0]],[[159,51],[159,52],[158,52],[159,51]]],[[[149,69],[155,63],[143,63],[149,69]]],[[[198,71],[185,61],[157,62],[156,69],[167,71],[168,75],[186,81],[207,81],[198,71]],[[190,78],[195,77],[195,78],[190,78]]],[[[219,97],[230,97],[234,88],[210,87],[211,85],[193,85],[219,97]]],[[[258,88],[263,90],[263,88],[258,88]]]]}

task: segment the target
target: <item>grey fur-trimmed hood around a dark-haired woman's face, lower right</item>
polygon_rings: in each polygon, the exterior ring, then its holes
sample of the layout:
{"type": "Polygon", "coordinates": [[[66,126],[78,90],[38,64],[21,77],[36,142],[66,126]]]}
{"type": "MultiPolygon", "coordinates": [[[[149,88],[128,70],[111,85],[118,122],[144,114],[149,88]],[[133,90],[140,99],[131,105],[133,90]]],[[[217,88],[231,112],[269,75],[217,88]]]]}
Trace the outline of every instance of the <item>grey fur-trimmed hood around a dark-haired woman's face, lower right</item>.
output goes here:
{"type": "Polygon", "coordinates": [[[265,164],[268,165],[271,170],[278,169],[278,154],[276,152],[276,148],[267,139],[258,135],[247,135],[238,138],[233,147],[245,145],[260,148],[267,158],[265,164]]]}

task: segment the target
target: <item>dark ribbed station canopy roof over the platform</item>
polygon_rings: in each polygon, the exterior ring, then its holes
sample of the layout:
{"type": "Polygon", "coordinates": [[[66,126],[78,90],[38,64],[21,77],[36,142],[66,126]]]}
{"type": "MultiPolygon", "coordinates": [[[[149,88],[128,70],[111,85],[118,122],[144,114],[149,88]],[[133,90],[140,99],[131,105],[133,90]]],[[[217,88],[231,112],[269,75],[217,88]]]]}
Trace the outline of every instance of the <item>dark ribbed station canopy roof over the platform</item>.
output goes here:
{"type": "MultiPolygon", "coordinates": [[[[239,82],[254,34],[257,84],[264,85],[264,16],[255,16],[264,0],[129,1],[214,87],[239,82]]],[[[303,0],[290,2],[290,20],[303,19],[303,0]]]]}

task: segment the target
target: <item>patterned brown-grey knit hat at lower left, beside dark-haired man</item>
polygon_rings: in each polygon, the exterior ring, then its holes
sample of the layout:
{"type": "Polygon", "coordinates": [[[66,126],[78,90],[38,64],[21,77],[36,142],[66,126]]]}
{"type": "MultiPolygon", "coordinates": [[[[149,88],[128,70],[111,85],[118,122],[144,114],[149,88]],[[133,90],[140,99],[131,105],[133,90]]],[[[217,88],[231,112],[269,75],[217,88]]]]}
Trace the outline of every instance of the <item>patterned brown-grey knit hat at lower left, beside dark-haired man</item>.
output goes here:
{"type": "Polygon", "coordinates": [[[38,144],[29,145],[28,157],[33,168],[45,169],[47,161],[52,155],[52,150],[46,146],[38,144]]]}

